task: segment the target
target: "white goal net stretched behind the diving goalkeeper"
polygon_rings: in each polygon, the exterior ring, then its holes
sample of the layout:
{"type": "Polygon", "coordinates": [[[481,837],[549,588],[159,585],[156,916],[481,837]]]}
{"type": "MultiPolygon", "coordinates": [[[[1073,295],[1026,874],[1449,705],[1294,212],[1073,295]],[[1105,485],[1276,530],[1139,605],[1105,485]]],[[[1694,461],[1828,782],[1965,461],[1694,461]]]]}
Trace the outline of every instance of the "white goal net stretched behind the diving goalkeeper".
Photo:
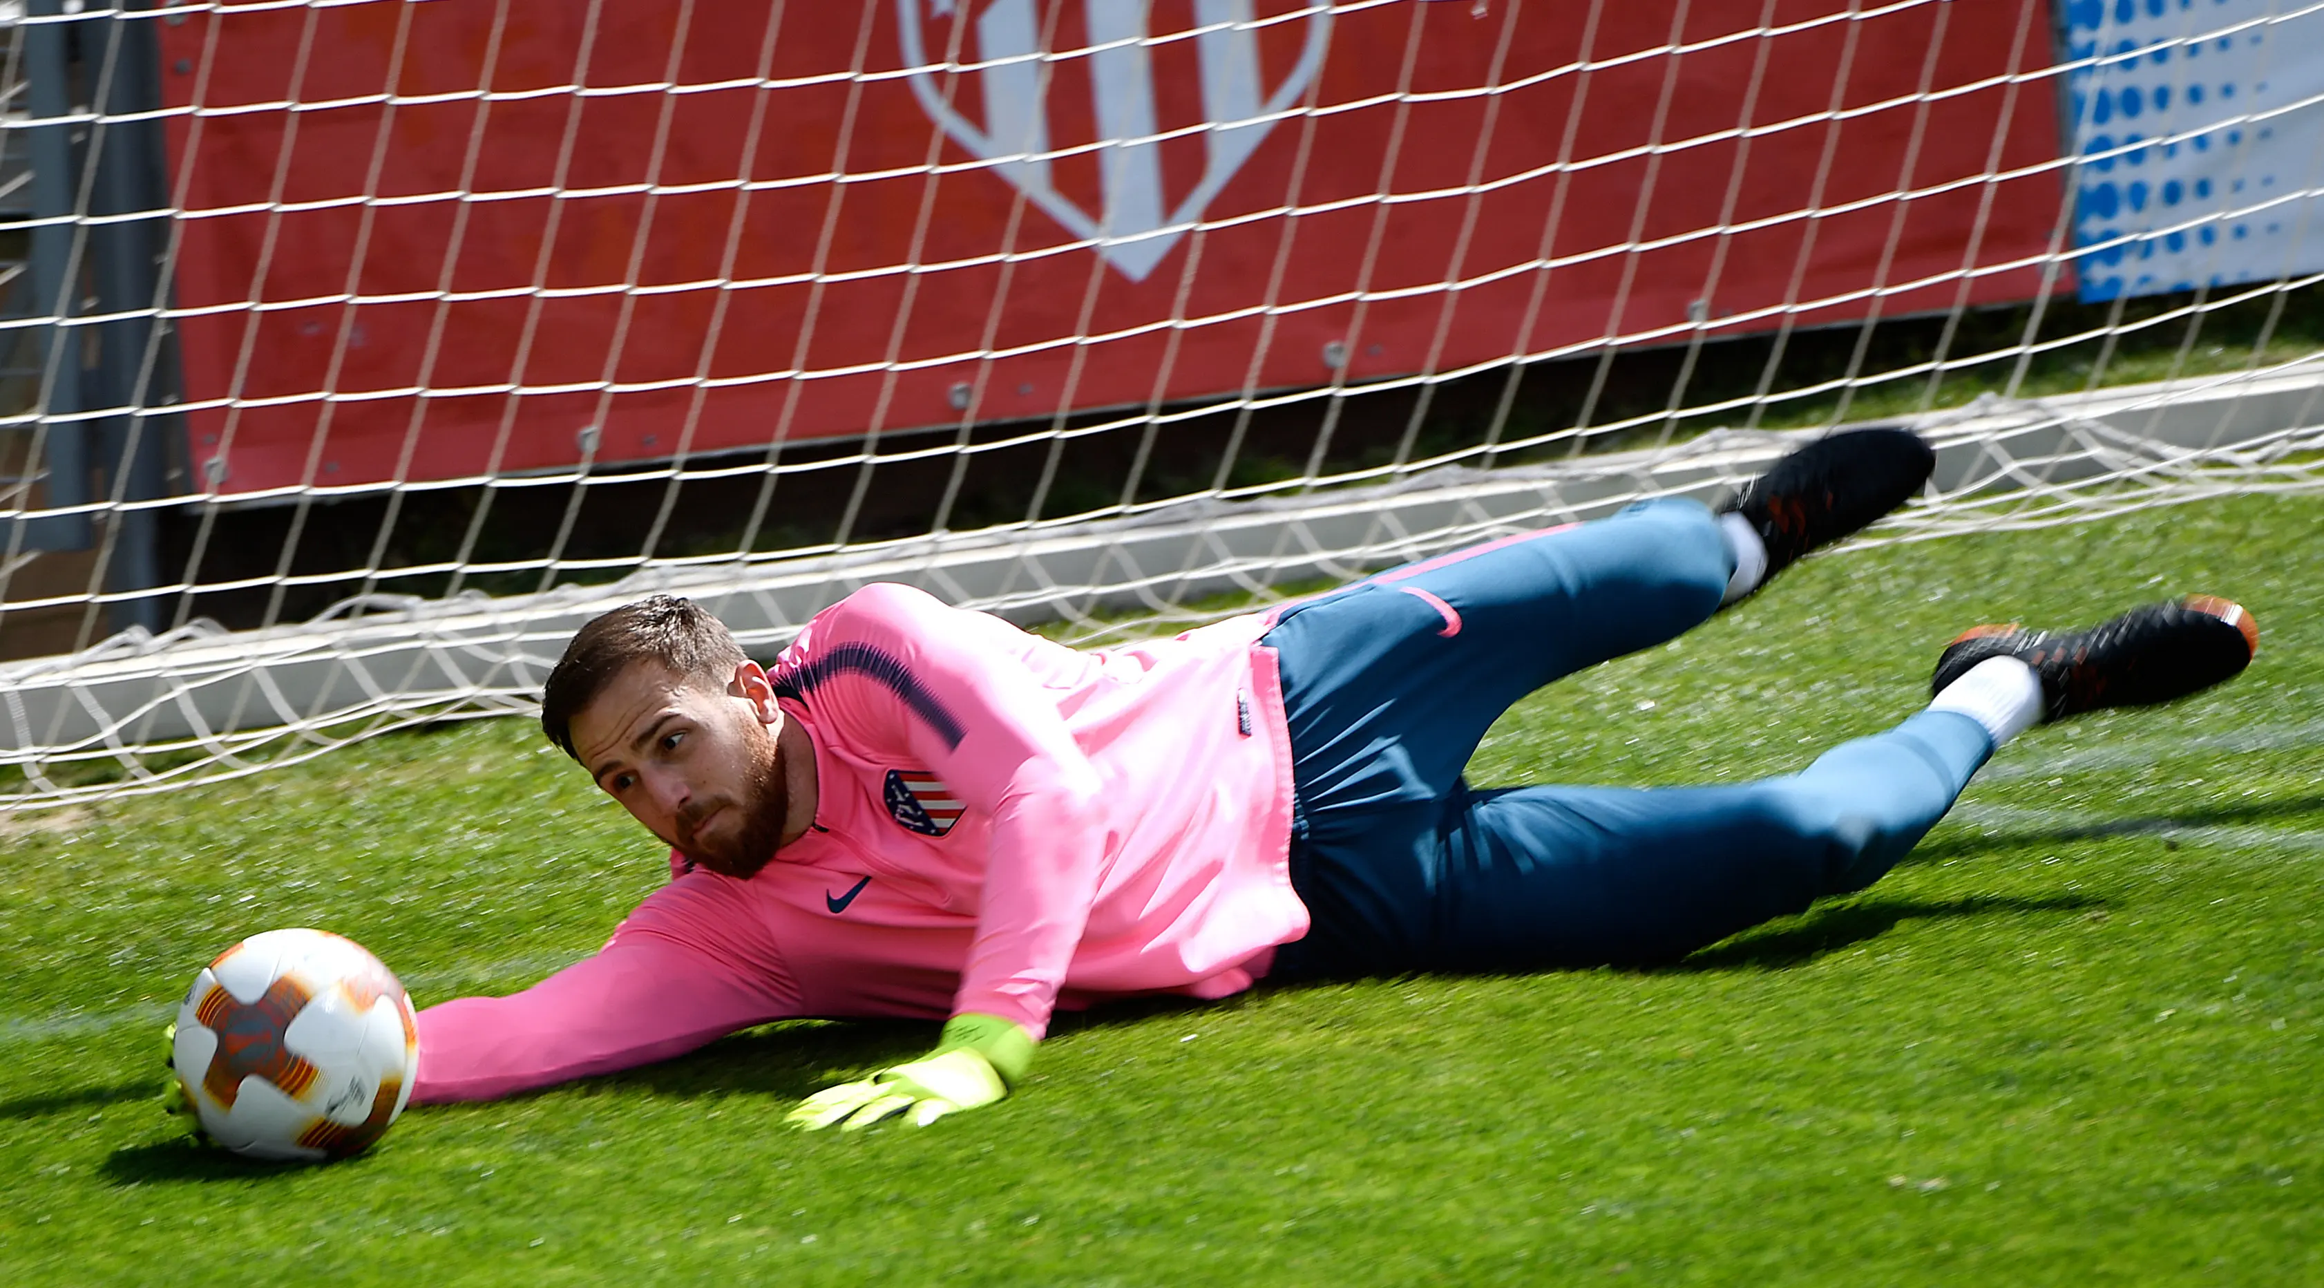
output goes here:
{"type": "Polygon", "coordinates": [[[651,591],[1088,644],[1841,423],[1873,539],[2324,484],[2324,5],[7,0],[0,811],[651,591]]]}

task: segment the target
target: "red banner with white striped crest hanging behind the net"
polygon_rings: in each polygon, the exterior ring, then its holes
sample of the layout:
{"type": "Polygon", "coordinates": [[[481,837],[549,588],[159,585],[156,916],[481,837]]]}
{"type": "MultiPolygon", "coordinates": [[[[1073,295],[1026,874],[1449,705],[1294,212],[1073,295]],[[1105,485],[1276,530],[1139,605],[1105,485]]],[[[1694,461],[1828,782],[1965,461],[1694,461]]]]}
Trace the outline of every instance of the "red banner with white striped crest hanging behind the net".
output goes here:
{"type": "Polygon", "coordinates": [[[1964,270],[2059,221],[1987,179],[2059,153],[2047,7],[1759,9],[188,14],[191,451],[449,479],[2033,295],[1964,270]]]}

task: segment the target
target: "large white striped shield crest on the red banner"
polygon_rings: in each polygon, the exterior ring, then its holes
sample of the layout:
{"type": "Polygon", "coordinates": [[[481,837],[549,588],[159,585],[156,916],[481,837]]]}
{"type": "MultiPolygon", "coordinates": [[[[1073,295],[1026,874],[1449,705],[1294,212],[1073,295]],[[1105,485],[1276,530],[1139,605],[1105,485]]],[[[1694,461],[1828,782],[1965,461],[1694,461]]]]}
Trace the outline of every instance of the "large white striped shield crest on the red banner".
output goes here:
{"type": "Polygon", "coordinates": [[[897,0],[897,28],[927,116],[1143,281],[1306,95],[1332,12],[1320,0],[897,0]],[[1171,93],[1188,79],[1199,95],[1171,93]],[[1164,165],[1171,146],[1199,149],[1199,174],[1164,165]],[[1076,184],[1076,170],[1095,181],[1076,184]]]}

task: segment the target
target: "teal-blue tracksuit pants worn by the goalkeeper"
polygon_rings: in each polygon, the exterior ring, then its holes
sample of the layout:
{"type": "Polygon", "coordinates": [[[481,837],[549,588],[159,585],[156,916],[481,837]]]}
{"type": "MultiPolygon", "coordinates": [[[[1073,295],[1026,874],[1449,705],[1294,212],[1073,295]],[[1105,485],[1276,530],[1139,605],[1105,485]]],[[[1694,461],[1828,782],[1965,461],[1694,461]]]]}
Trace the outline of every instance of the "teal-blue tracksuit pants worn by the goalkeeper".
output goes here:
{"type": "Polygon", "coordinates": [[[1664,963],[1878,881],[1992,756],[1968,716],[1922,711],[1750,783],[1462,777],[1504,709],[1706,621],[1731,572],[1708,509],[1655,500],[1285,609],[1267,644],[1313,928],[1276,974],[1664,963]]]}

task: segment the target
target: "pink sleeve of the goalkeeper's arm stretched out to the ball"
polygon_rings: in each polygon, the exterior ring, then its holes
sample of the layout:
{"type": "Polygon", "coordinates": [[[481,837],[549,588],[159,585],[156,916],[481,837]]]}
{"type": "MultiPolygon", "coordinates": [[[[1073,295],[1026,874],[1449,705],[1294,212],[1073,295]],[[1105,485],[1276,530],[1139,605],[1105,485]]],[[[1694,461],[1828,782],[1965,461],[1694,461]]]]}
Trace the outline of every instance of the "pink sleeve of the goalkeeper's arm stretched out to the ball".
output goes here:
{"type": "Polygon", "coordinates": [[[416,1104],[495,1100],[667,1060],[753,1023],[795,1016],[788,972],[709,872],[648,897],[614,939],[511,997],[460,997],[418,1014],[416,1104]],[[755,951],[753,951],[755,949],[755,951]]]}

